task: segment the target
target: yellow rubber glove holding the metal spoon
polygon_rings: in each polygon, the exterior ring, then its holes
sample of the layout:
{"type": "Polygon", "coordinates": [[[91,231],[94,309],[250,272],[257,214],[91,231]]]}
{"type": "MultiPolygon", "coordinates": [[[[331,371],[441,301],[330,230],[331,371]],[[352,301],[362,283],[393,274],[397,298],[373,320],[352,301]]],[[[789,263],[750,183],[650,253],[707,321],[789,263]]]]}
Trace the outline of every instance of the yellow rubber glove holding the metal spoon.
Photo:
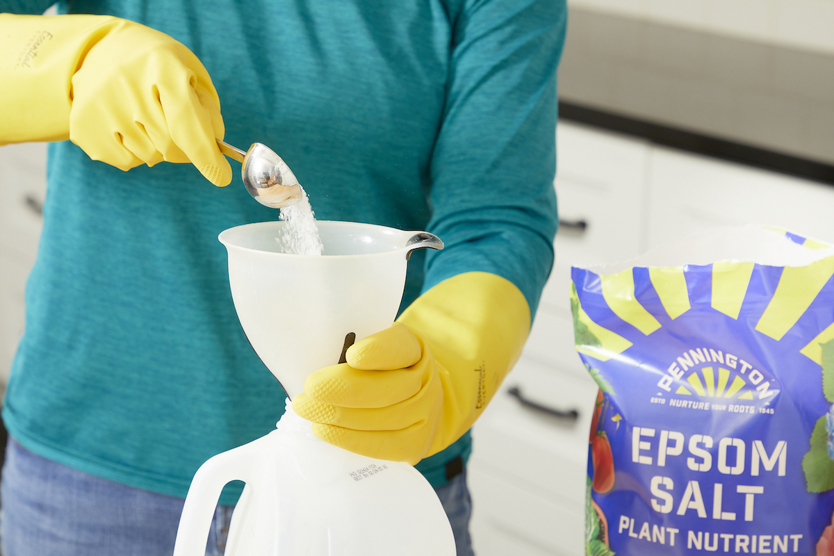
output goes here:
{"type": "Polygon", "coordinates": [[[70,139],[127,171],[193,163],[228,185],[220,100],[194,54],[109,16],[0,14],[0,144],[70,139]]]}

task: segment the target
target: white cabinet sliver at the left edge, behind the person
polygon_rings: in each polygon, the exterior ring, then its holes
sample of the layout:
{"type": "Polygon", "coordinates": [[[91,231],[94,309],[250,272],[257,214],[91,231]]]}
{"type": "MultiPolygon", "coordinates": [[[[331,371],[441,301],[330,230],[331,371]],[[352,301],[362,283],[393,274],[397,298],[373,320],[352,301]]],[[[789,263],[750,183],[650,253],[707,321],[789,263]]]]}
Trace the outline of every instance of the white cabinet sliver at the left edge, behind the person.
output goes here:
{"type": "Polygon", "coordinates": [[[0,147],[0,392],[23,333],[23,290],[38,252],[45,143],[0,147]]]}

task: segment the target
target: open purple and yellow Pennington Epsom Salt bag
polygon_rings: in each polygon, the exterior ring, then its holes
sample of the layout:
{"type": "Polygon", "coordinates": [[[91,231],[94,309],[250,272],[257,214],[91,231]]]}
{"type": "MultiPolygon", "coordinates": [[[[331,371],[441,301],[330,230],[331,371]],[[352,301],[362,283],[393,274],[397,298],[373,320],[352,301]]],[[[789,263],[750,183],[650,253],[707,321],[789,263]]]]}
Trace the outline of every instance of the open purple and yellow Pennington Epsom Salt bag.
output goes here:
{"type": "Polygon", "coordinates": [[[834,249],[721,228],[573,268],[585,551],[834,555],[834,249]]]}

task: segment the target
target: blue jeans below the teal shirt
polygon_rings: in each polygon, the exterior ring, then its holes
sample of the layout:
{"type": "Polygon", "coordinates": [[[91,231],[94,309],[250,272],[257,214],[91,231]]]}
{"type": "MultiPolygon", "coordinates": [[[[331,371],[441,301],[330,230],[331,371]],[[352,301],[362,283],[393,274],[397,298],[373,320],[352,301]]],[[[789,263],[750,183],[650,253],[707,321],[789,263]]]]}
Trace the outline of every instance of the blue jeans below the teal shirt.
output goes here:
{"type": "MultiPolygon", "coordinates": [[[[472,556],[466,473],[437,489],[458,556],[472,556]]],[[[9,438],[0,486],[3,556],[171,556],[183,499],[113,483],[9,438]]],[[[206,556],[224,552],[232,506],[218,506],[206,556]]]]}

